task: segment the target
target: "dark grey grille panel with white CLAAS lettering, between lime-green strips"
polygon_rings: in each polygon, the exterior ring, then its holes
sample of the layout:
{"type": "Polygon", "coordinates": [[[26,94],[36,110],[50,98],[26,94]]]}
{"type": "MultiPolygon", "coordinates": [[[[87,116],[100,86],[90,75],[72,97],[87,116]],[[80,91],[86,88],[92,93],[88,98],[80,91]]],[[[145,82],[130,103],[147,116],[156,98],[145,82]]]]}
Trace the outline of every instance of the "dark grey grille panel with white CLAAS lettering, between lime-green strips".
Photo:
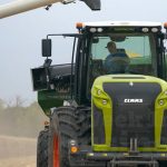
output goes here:
{"type": "Polygon", "coordinates": [[[104,90],[112,100],[111,147],[155,145],[155,100],[161,88],[155,82],[105,82],[104,90]]]}

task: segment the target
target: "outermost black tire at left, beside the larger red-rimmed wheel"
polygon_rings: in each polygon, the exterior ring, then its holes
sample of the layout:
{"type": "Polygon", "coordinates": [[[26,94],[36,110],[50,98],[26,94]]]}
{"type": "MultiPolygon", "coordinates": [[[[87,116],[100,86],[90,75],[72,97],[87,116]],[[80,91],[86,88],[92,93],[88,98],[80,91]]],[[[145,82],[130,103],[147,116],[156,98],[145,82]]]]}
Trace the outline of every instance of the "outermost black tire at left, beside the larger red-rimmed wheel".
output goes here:
{"type": "Polygon", "coordinates": [[[37,143],[37,167],[48,167],[48,130],[40,131],[37,143]]]}

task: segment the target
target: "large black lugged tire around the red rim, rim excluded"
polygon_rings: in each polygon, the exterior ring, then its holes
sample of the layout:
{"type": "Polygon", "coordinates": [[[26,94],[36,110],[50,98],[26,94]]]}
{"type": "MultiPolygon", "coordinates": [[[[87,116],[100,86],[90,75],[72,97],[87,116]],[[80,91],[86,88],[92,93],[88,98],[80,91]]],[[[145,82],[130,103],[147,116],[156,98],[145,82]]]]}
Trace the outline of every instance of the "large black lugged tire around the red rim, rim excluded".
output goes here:
{"type": "Polygon", "coordinates": [[[50,118],[49,167],[52,167],[51,138],[60,136],[60,167],[70,167],[68,158],[69,140],[75,139],[79,145],[91,144],[90,108],[60,107],[55,109],[50,118]]]}

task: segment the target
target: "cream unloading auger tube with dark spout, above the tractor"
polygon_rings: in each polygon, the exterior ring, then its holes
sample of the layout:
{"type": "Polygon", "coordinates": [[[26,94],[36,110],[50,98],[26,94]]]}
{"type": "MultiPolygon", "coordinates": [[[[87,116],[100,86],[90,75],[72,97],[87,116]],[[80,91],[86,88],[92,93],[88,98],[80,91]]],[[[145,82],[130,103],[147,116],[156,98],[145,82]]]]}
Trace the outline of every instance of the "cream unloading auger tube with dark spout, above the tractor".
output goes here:
{"type": "MultiPolygon", "coordinates": [[[[100,9],[100,0],[81,0],[91,10],[100,9]]],[[[0,6],[0,19],[7,18],[13,14],[33,10],[40,7],[50,6],[52,3],[62,2],[65,4],[75,2],[75,0],[16,0],[7,4],[0,6]]]]}

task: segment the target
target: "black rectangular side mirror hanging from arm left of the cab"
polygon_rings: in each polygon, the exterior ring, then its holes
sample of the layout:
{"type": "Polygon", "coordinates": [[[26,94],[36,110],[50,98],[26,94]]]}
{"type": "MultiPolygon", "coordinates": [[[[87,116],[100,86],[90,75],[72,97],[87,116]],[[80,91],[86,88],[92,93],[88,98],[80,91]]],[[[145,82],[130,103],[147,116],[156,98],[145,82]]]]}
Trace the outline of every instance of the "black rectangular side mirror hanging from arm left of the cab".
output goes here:
{"type": "Polygon", "coordinates": [[[42,57],[51,57],[51,39],[42,39],[42,57]]]}

